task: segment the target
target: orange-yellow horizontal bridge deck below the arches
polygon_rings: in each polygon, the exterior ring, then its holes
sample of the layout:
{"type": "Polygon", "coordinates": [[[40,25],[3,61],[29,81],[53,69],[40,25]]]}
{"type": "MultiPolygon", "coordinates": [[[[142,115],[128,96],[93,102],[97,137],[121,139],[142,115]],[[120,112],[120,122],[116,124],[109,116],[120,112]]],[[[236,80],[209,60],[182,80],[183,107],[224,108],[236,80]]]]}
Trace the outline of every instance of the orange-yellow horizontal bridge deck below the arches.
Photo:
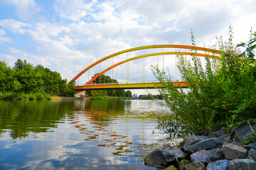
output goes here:
{"type": "MultiPolygon", "coordinates": [[[[177,82],[174,82],[178,86],[177,82]]],[[[186,88],[186,84],[180,81],[181,87],[186,88]]],[[[76,86],[75,90],[107,90],[107,89],[155,89],[161,87],[160,83],[136,83],[136,84],[90,84],[76,86]]]]}

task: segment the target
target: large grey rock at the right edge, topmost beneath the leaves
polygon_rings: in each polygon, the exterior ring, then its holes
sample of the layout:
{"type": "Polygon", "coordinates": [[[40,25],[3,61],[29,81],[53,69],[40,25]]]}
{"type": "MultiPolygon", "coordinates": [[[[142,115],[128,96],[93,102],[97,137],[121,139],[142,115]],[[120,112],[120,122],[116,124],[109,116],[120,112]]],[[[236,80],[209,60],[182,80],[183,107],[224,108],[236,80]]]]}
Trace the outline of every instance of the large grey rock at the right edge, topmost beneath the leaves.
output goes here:
{"type": "MultiPolygon", "coordinates": [[[[252,125],[252,129],[255,130],[256,125],[252,125]]],[[[248,137],[252,136],[252,130],[249,125],[240,125],[233,130],[236,142],[242,142],[248,137]]]]}

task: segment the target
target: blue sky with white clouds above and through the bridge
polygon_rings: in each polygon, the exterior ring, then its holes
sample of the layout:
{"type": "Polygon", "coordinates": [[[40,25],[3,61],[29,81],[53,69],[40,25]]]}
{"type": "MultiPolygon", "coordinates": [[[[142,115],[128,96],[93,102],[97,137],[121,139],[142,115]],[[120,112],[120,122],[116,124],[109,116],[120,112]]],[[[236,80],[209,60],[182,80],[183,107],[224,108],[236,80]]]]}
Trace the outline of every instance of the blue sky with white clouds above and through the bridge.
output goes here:
{"type": "MultiPolygon", "coordinates": [[[[18,59],[41,64],[70,81],[114,52],[144,45],[191,45],[191,29],[197,46],[213,45],[216,36],[227,40],[230,25],[235,44],[245,42],[255,30],[255,18],[255,0],[0,0],[0,60],[10,67],[18,59]]],[[[124,59],[127,54],[115,57],[114,63],[124,59]]],[[[172,74],[174,61],[164,57],[164,69],[172,74]]],[[[161,57],[145,59],[145,81],[154,80],[150,66],[162,67],[162,62],[161,57]]],[[[101,70],[111,64],[102,63],[101,70]]],[[[128,67],[129,81],[142,81],[142,60],[128,67]]],[[[79,84],[99,69],[86,72],[79,84]]],[[[127,64],[117,67],[117,74],[106,74],[125,82],[127,64]]]]}

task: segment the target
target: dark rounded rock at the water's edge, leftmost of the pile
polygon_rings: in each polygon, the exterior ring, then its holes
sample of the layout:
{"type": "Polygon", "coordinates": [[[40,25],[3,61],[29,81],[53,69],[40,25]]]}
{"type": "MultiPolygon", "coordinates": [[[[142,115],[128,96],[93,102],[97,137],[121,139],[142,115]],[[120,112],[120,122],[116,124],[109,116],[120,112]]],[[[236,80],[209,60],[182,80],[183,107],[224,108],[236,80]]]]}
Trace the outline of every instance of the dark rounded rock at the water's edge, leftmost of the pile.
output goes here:
{"type": "Polygon", "coordinates": [[[150,152],[145,157],[145,164],[149,166],[155,166],[159,168],[163,168],[166,166],[167,162],[164,158],[164,154],[160,149],[155,149],[153,152],[150,152]]]}

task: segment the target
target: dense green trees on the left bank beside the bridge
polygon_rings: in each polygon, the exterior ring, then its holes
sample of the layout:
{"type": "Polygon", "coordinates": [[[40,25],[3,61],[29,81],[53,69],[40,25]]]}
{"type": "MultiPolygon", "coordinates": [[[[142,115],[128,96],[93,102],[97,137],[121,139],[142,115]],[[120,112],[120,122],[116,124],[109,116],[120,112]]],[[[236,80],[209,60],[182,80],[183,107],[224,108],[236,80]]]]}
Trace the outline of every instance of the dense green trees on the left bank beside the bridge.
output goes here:
{"type": "Polygon", "coordinates": [[[48,96],[74,96],[75,83],[68,85],[58,72],[17,60],[14,67],[9,67],[5,61],[0,61],[0,98],[29,99],[49,98],[48,96]],[[14,96],[14,97],[12,97],[14,96]],[[23,96],[23,98],[18,98],[23,96]],[[37,97],[38,96],[38,97],[37,97]],[[44,97],[46,96],[46,97],[44,97]]]}

